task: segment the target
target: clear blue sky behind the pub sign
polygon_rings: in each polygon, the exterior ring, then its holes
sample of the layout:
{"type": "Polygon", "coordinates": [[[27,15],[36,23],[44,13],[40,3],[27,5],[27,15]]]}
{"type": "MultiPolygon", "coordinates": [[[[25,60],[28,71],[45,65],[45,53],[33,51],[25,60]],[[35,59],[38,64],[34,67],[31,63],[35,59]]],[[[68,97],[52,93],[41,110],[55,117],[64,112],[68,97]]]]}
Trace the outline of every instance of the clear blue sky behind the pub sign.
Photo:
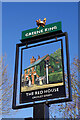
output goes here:
{"type": "MultiPolygon", "coordinates": [[[[70,63],[78,56],[78,3],[76,2],[4,2],[2,3],[2,54],[6,53],[8,74],[13,82],[16,44],[24,30],[35,28],[37,19],[46,24],[61,21],[63,32],[68,32],[70,63]]],[[[13,111],[12,111],[13,112],[13,111]]],[[[32,108],[18,110],[14,117],[31,117],[32,108]]],[[[8,117],[13,117],[12,113],[8,117]]]]}

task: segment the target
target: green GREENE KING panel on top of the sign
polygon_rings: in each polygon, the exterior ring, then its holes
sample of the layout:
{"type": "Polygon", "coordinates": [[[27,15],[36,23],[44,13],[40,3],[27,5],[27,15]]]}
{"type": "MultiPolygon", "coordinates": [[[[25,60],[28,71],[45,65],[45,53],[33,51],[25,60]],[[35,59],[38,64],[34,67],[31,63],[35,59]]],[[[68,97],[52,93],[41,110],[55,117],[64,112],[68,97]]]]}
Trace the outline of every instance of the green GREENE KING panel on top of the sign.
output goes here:
{"type": "Polygon", "coordinates": [[[36,27],[33,29],[22,31],[22,40],[51,32],[58,32],[58,31],[62,31],[61,22],[48,24],[45,25],[44,27],[40,27],[39,29],[37,29],[36,27]]]}

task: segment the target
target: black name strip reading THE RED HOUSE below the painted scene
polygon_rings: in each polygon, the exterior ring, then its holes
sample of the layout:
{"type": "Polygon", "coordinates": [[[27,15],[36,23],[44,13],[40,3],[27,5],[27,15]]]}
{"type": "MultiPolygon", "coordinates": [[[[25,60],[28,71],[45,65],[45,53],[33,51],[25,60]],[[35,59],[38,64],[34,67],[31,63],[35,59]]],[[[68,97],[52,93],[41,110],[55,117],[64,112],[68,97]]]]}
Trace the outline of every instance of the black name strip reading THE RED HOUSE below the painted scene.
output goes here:
{"type": "Polygon", "coordinates": [[[60,98],[60,97],[66,97],[64,85],[49,87],[46,89],[21,92],[20,103],[28,103],[28,102],[54,99],[54,98],[60,98]]]}

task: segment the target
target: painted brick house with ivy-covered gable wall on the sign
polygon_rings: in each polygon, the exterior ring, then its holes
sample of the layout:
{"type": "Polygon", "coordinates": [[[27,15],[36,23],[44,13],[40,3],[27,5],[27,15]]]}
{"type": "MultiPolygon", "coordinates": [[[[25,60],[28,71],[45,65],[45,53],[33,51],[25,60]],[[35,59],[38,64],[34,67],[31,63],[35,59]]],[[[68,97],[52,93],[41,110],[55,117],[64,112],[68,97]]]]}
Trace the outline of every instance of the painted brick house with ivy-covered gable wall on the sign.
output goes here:
{"type": "Polygon", "coordinates": [[[24,70],[23,82],[25,85],[42,85],[51,82],[49,74],[58,71],[62,67],[58,60],[55,60],[51,55],[45,55],[36,60],[34,56],[30,59],[30,65],[24,70]],[[50,78],[50,79],[49,79],[50,78]]]}

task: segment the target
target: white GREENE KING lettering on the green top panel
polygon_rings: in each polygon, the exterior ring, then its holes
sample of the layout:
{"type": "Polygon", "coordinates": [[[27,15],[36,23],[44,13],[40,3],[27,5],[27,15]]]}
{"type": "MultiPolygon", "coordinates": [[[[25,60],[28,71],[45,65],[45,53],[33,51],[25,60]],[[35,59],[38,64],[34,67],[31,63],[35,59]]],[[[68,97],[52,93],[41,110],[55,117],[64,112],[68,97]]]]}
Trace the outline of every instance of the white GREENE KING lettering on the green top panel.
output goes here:
{"type": "Polygon", "coordinates": [[[33,35],[37,35],[37,34],[41,34],[41,33],[47,33],[47,32],[53,31],[53,30],[57,30],[57,26],[50,27],[50,28],[43,28],[41,30],[29,32],[29,33],[26,33],[25,36],[26,37],[33,36],[33,35]]]}

